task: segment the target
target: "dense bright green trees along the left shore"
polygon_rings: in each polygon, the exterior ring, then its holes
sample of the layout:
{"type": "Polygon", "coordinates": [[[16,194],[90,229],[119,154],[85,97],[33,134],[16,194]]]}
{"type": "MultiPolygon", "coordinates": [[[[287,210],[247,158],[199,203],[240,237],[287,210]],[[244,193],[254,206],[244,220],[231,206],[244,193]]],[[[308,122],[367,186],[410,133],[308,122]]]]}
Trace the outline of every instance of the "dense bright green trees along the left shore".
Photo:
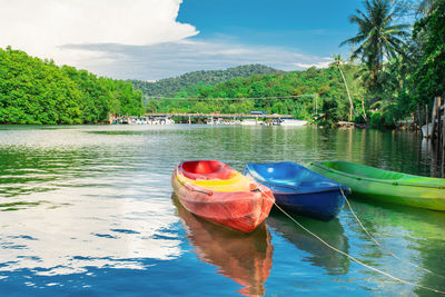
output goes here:
{"type": "Polygon", "coordinates": [[[0,49],[0,123],[99,123],[142,112],[130,82],[0,49]]]}

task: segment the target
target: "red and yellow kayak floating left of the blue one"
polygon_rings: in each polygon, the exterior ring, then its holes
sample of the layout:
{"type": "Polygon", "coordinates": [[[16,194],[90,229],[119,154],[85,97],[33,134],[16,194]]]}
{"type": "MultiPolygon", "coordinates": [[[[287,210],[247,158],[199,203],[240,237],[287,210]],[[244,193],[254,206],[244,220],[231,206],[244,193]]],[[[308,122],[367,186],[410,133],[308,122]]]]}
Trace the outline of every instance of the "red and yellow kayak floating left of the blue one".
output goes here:
{"type": "Polygon", "coordinates": [[[251,232],[275,202],[270,189],[220,161],[182,161],[171,186],[190,212],[215,224],[251,232]]]}

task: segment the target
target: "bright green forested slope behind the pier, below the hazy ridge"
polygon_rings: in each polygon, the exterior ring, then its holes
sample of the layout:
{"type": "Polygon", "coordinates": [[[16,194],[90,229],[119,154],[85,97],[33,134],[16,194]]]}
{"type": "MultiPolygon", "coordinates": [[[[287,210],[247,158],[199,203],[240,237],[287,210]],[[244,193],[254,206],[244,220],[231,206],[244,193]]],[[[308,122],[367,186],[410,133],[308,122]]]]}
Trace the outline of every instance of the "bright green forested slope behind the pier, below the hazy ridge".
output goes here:
{"type": "MultiPolygon", "coordinates": [[[[355,66],[346,66],[344,69],[350,80],[358,71],[359,67],[355,66]]],[[[364,92],[357,82],[352,83],[349,89],[354,97],[364,92]]],[[[175,97],[151,99],[147,110],[205,113],[248,113],[250,110],[263,110],[301,119],[314,119],[317,112],[327,115],[324,121],[329,122],[347,117],[349,110],[346,89],[335,65],[326,69],[310,68],[284,75],[235,78],[216,86],[197,85],[182,89],[175,97]]]]}

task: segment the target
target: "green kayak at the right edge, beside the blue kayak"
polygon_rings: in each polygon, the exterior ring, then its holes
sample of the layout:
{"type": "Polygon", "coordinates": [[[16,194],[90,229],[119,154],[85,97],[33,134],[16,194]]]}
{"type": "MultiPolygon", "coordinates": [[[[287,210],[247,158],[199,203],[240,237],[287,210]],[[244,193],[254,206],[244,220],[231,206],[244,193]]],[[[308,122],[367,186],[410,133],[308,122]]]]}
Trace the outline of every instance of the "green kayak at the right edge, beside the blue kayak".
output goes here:
{"type": "Polygon", "coordinates": [[[405,175],[347,161],[312,162],[307,168],[349,187],[353,197],[445,210],[444,178],[405,175]]]}

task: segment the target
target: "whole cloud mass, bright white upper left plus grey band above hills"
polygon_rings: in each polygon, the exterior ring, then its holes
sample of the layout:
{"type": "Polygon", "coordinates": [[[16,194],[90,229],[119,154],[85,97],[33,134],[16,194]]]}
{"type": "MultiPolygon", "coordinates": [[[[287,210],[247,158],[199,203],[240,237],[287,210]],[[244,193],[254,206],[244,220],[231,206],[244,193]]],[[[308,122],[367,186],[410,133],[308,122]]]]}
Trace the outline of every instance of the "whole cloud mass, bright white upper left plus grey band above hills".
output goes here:
{"type": "Polygon", "coordinates": [[[156,80],[189,71],[263,63],[283,70],[326,67],[326,58],[278,47],[197,41],[176,21],[182,0],[0,0],[0,47],[93,73],[156,80]]]}

